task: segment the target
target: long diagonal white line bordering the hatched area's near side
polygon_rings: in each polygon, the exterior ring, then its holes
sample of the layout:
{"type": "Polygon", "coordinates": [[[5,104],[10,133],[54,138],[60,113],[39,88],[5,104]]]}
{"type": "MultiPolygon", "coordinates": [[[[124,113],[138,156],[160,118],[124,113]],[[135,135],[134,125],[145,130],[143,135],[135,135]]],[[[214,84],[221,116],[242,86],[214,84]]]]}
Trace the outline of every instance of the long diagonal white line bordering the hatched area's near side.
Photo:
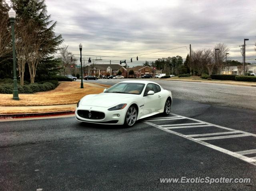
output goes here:
{"type": "MultiPolygon", "coordinates": [[[[193,119],[192,119],[192,120],[193,120],[193,119]]],[[[188,137],[188,136],[186,136],[186,135],[183,135],[182,133],[177,133],[177,132],[175,132],[175,131],[171,131],[171,130],[169,130],[169,129],[165,129],[165,128],[163,128],[163,127],[160,127],[159,125],[156,125],[156,124],[154,124],[154,123],[150,123],[150,122],[148,122],[148,121],[144,121],[144,123],[146,123],[146,124],[148,124],[148,125],[152,125],[153,127],[156,127],[156,128],[158,128],[158,129],[161,129],[161,130],[166,131],[166,132],[168,132],[168,133],[172,133],[172,134],[174,134],[174,135],[178,135],[178,136],[183,137],[183,138],[185,138],[185,139],[189,139],[189,140],[191,140],[191,141],[194,141],[194,142],[199,143],[199,144],[201,144],[201,145],[204,145],[204,146],[206,146],[206,147],[210,147],[210,148],[215,149],[215,150],[217,150],[217,151],[220,151],[220,152],[222,152],[222,153],[226,153],[226,154],[228,154],[228,155],[231,155],[231,156],[233,156],[233,157],[236,157],[236,158],[238,158],[238,159],[241,159],[241,160],[246,161],[246,162],[248,162],[248,163],[251,163],[251,164],[253,164],[253,165],[256,165],[256,159],[254,159],[254,158],[249,158],[249,157],[246,157],[246,156],[244,156],[244,155],[240,155],[240,154],[238,154],[238,153],[229,151],[229,150],[227,150],[227,149],[223,149],[223,148],[221,148],[221,147],[217,147],[217,146],[212,145],[212,144],[210,144],[210,143],[206,143],[206,142],[204,142],[204,141],[200,141],[200,140],[198,140],[198,139],[194,139],[194,138],[192,138],[192,137],[188,137]]],[[[211,124],[211,125],[214,126],[213,124],[211,124]]]]}

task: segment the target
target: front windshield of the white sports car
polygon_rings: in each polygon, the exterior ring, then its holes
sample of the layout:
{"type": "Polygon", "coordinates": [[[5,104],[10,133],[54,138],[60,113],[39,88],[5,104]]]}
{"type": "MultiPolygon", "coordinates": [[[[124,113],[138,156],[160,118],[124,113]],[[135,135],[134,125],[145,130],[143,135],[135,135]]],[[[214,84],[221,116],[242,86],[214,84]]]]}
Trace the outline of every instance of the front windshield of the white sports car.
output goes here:
{"type": "Polygon", "coordinates": [[[137,94],[140,95],[145,84],[123,82],[108,88],[104,93],[137,94]]]}

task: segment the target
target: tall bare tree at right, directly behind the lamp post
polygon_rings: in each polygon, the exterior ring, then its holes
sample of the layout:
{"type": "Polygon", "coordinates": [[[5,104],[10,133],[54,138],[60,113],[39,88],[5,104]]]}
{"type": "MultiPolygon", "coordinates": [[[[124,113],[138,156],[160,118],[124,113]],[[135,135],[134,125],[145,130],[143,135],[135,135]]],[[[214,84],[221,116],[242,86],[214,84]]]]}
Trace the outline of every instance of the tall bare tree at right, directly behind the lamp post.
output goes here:
{"type": "Polygon", "coordinates": [[[219,43],[216,44],[214,47],[214,54],[215,54],[215,49],[219,49],[216,51],[216,60],[214,56],[214,60],[216,62],[216,66],[218,69],[218,74],[221,74],[222,71],[224,71],[224,60],[226,58],[226,53],[230,50],[224,43],[219,43]]]}

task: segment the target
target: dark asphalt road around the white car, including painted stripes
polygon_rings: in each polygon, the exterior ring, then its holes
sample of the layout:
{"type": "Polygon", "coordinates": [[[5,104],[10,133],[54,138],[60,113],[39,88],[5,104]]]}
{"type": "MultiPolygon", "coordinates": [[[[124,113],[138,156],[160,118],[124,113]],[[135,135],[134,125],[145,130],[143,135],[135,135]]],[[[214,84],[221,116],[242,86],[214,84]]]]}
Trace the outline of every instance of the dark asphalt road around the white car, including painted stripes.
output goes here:
{"type": "MultiPolygon", "coordinates": [[[[172,114],[132,128],[74,117],[0,122],[0,190],[256,190],[256,110],[231,101],[203,103],[199,96],[201,86],[202,92],[208,86],[232,93],[237,86],[158,82],[173,91],[172,114]],[[179,87],[185,93],[179,94],[179,87]],[[199,89],[188,97],[196,100],[186,99],[187,88],[199,89]],[[160,183],[182,177],[250,178],[250,183],[160,183]]],[[[255,95],[255,89],[239,87],[255,95]]],[[[209,99],[221,99],[216,94],[209,99]]]]}

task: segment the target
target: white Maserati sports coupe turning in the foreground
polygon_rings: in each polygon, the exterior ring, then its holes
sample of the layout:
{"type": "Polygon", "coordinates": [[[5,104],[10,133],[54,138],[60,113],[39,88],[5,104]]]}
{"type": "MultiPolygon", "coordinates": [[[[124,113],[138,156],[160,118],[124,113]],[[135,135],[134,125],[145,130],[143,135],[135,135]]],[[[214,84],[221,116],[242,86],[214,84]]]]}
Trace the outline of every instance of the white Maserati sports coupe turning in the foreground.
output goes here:
{"type": "Polygon", "coordinates": [[[84,96],[76,107],[78,121],[125,125],[163,113],[169,115],[172,93],[152,81],[124,81],[105,89],[101,94],[84,96]]]}

